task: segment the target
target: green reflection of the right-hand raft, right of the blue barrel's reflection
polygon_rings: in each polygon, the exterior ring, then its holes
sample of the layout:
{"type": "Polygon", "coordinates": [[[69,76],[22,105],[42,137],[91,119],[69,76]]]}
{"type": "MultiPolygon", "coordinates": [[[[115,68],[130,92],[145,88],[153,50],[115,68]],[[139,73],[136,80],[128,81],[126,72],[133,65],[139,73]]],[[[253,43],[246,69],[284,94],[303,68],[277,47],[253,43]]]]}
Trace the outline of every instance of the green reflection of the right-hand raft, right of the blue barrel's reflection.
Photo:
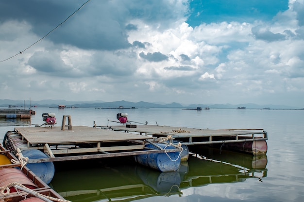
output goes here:
{"type": "Polygon", "coordinates": [[[182,179],[181,189],[212,183],[237,183],[248,178],[262,181],[267,176],[267,156],[253,156],[224,151],[192,154],[188,159],[189,171],[182,179]]]}

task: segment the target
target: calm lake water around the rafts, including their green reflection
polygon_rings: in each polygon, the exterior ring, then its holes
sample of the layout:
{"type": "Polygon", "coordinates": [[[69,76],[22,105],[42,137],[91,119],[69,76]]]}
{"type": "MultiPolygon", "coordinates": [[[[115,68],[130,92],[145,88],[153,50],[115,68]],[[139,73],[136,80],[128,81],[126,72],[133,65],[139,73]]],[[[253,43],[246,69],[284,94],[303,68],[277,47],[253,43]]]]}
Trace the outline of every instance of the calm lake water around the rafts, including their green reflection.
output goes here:
{"type": "MultiPolygon", "coordinates": [[[[107,125],[118,112],[131,121],[195,128],[264,128],[267,156],[204,149],[177,172],[160,173],[115,158],[68,162],[56,167],[51,186],[73,202],[303,202],[304,110],[258,109],[50,109],[35,108],[31,122],[0,120],[0,139],[14,125],[43,124],[41,114],[63,115],[73,125],[107,125]]],[[[109,123],[115,124],[115,123],[109,123]]],[[[2,142],[2,140],[0,140],[2,142]]]]}

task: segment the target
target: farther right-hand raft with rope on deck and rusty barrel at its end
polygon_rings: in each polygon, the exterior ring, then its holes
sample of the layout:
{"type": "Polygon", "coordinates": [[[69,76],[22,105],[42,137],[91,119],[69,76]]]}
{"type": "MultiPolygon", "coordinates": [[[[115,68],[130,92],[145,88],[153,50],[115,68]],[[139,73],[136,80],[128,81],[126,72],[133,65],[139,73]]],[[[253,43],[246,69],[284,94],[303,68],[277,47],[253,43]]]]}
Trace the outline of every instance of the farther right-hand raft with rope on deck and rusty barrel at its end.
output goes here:
{"type": "MultiPolygon", "coordinates": [[[[101,126],[102,127],[102,126],[101,126]]],[[[104,128],[109,128],[105,126],[104,128]]],[[[221,144],[228,150],[236,150],[253,155],[267,153],[268,135],[263,129],[198,129],[187,127],[171,127],[159,125],[137,125],[128,128],[125,125],[110,126],[111,130],[156,138],[168,137],[182,145],[211,145],[221,144]]]]}

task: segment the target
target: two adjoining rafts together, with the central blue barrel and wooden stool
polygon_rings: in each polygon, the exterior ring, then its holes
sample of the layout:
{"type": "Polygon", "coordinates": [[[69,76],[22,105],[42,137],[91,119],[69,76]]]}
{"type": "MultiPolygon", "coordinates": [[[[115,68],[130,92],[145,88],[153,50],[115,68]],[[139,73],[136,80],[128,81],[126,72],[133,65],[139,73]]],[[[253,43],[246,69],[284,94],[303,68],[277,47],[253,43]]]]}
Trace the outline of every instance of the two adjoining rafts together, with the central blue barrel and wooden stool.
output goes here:
{"type": "MultiPolygon", "coordinates": [[[[61,127],[16,127],[6,133],[3,145],[14,155],[18,150],[28,155],[28,165],[134,156],[136,162],[159,171],[176,171],[181,160],[187,160],[187,146],[220,145],[220,148],[253,155],[267,152],[268,137],[263,129],[210,130],[159,125],[98,127],[72,127],[70,121],[68,125],[63,122],[61,127]],[[65,126],[68,126],[67,130],[65,126]],[[37,150],[42,155],[31,154],[37,150]]],[[[52,165],[47,167],[47,172],[53,172],[52,165]]]]}

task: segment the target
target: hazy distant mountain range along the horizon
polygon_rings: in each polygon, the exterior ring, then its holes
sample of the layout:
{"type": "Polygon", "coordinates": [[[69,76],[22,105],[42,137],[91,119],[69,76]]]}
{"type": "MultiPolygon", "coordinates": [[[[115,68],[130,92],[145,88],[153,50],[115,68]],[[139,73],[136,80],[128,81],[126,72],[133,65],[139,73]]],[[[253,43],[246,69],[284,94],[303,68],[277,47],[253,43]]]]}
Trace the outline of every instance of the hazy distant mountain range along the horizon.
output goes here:
{"type": "Polygon", "coordinates": [[[65,105],[67,107],[76,108],[118,108],[122,106],[124,108],[180,108],[180,109],[193,109],[197,107],[201,108],[218,108],[218,109],[236,109],[237,107],[245,107],[246,109],[299,109],[297,107],[286,106],[286,105],[256,105],[252,103],[247,104],[191,104],[191,105],[181,105],[179,103],[173,102],[171,104],[160,104],[160,103],[150,103],[150,102],[128,102],[125,100],[115,101],[115,102],[103,102],[100,100],[96,101],[66,101],[66,100],[40,100],[40,101],[30,101],[29,100],[9,100],[0,99],[0,107],[57,107],[58,105],[65,105]]]}

